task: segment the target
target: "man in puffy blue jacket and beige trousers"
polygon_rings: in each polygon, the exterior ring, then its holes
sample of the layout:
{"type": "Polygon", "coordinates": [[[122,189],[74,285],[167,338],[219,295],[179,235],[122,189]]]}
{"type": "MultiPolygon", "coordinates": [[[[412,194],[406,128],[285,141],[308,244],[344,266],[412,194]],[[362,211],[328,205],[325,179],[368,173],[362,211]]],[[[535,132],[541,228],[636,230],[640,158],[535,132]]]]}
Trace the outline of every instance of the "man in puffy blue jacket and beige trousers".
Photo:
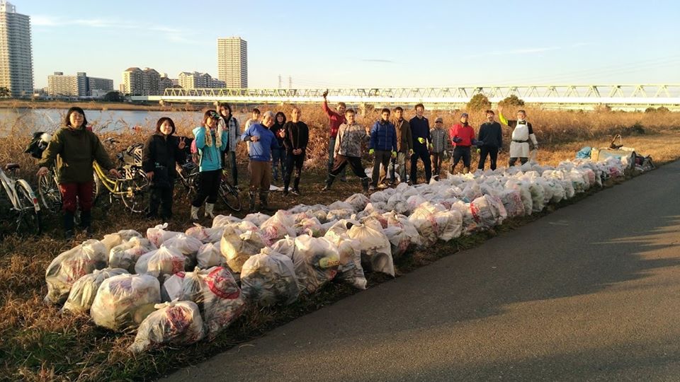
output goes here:
{"type": "Polygon", "coordinates": [[[370,129],[370,141],[368,142],[368,154],[375,155],[369,191],[375,190],[378,183],[382,184],[385,181],[383,176],[378,182],[380,165],[385,168],[385,173],[387,173],[387,164],[390,163],[390,158],[397,157],[397,130],[395,130],[395,125],[390,122],[390,109],[382,109],[380,116],[380,120],[375,122],[373,128],[370,129]]]}

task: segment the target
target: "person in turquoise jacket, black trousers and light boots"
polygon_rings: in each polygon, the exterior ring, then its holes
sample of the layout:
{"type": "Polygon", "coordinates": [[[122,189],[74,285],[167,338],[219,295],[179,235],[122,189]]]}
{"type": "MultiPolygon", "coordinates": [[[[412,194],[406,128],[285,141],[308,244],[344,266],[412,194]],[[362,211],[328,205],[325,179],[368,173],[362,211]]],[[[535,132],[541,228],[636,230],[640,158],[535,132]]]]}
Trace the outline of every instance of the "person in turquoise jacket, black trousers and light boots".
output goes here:
{"type": "Polygon", "coordinates": [[[217,191],[222,181],[222,153],[227,149],[227,132],[218,127],[220,115],[208,110],[203,115],[203,124],[193,129],[194,142],[198,151],[198,193],[191,202],[191,219],[198,220],[198,209],[205,203],[205,216],[212,213],[217,202],[217,191]]]}

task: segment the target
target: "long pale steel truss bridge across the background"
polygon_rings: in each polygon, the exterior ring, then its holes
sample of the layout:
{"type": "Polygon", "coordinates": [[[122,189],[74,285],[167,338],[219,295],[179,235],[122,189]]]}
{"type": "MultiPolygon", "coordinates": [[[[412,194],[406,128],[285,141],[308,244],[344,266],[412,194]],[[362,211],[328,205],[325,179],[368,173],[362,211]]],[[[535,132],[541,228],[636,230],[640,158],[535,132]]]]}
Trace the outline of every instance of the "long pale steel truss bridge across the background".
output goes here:
{"type": "MultiPolygon", "coordinates": [[[[162,96],[132,96],[133,101],[159,103],[320,103],[325,88],[182,89],[167,88],[162,96]]],[[[434,108],[460,107],[483,94],[492,103],[517,96],[525,103],[543,108],[616,109],[667,107],[680,110],[680,84],[645,85],[541,85],[541,86],[459,86],[443,88],[335,88],[328,89],[331,103],[351,105],[415,105],[434,108]]]]}

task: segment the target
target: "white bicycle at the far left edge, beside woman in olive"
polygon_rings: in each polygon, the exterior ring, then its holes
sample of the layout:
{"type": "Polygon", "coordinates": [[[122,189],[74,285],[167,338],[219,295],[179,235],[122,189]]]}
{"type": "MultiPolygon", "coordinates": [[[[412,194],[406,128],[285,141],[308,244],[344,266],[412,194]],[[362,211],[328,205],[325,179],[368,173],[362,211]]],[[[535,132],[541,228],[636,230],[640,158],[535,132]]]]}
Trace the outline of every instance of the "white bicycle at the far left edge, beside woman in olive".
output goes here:
{"type": "Polygon", "coordinates": [[[0,206],[3,211],[16,214],[17,232],[23,231],[26,227],[30,233],[40,234],[42,232],[40,203],[28,182],[16,177],[18,169],[19,165],[16,163],[7,163],[4,170],[0,169],[0,183],[7,195],[6,199],[0,198],[0,206]],[[7,176],[5,171],[10,175],[7,176]]]}

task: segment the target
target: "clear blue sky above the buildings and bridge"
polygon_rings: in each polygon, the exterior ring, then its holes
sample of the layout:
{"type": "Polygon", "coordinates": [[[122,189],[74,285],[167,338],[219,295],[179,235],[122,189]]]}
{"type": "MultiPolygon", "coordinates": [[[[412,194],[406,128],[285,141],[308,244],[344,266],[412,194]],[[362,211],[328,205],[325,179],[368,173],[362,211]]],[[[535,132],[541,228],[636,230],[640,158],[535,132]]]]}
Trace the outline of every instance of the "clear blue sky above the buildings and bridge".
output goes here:
{"type": "Polygon", "coordinates": [[[680,83],[676,0],[11,3],[31,16],[37,88],[53,71],[217,76],[232,35],[251,88],[680,83]]]}

